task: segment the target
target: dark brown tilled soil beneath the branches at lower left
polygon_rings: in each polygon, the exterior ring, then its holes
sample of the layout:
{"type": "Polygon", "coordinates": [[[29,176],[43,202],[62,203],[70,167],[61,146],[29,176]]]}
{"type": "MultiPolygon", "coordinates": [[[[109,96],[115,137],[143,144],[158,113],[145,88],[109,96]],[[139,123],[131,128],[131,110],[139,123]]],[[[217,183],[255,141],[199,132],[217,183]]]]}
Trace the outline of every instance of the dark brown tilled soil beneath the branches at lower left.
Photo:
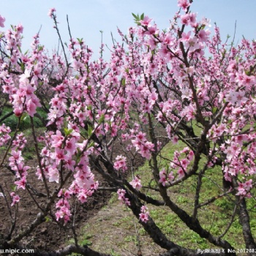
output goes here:
{"type": "MultiPolygon", "coordinates": [[[[2,157],[3,152],[0,152],[0,159],[2,157]]],[[[44,191],[42,182],[39,181],[37,179],[37,176],[35,176],[34,174],[37,167],[37,161],[35,161],[34,159],[29,159],[26,162],[26,165],[29,165],[31,167],[31,169],[29,170],[29,183],[36,187],[38,191],[44,191]]],[[[136,159],[135,161],[135,167],[138,167],[140,165],[143,165],[143,159],[141,157],[138,157],[138,159],[136,159]]],[[[99,181],[100,186],[102,186],[102,178],[100,176],[97,176],[97,180],[99,181]]],[[[9,170],[1,170],[0,181],[4,189],[10,189],[14,181],[14,176],[12,175],[12,173],[10,173],[9,170]]],[[[19,230],[24,230],[26,227],[28,227],[39,213],[39,209],[37,208],[28,193],[23,191],[23,189],[18,189],[18,195],[20,195],[20,203],[15,230],[12,237],[17,235],[19,230]]],[[[86,222],[89,219],[95,217],[97,218],[97,213],[102,208],[102,206],[106,206],[109,198],[110,192],[97,191],[87,203],[78,205],[78,211],[75,217],[75,227],[78,234],[81,232],[81,227],[86,226],[86,222]]],[[[37,200],[39,200],[39,203],[43,203],[43,200],[40,201],[40,198],[37,198],[37,200]]],[[[0,233],[6,235],[7,233],[9,233],[10,227],[10,214],[4,202],[4,197],[0,197],[0,233]]],[[[56,222],[49,220],[48,222],[39,225],[39,227],[37,227],[33,232],[29,234],[29,236],[23,238],[21,244],[27,248],[39,249],[49,252],[54,249],[60,249],[62,246],[67,246],[71,238],[71,223],[69,223],[63,229],[56,222]]]]}

